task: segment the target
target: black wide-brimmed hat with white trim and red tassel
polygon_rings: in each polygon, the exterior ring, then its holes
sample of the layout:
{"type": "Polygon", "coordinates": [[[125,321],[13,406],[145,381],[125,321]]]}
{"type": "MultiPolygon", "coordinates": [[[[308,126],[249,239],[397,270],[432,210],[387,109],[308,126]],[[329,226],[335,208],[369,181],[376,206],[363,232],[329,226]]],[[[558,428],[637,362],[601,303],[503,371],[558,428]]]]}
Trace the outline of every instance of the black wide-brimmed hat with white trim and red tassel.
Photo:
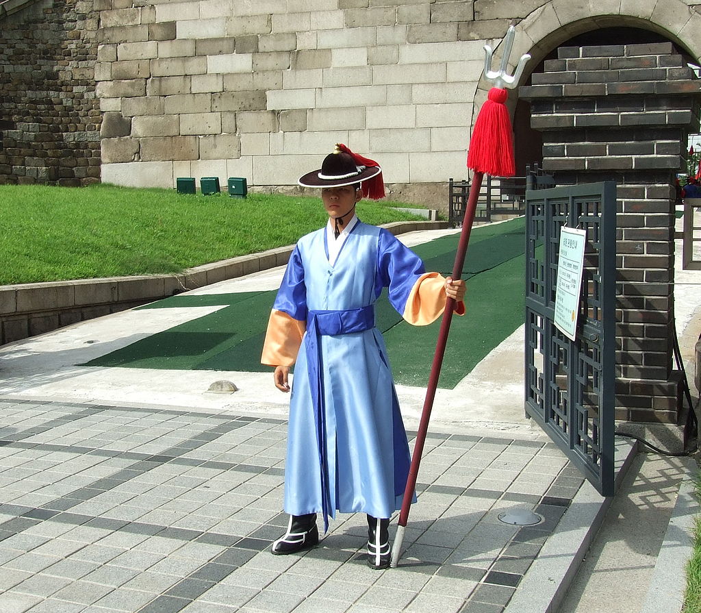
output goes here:
{"type": "Polygon", "coordinates": [[[344,144],[336,144],[332,154],[327,155],[319,170],[313,170],[299,177],[303,187],[342,187],[362,185],[363,194],[369,198],[382,198],[385,195],[382,169],[371,159],[354,154],[344,144]],[[368,181],[369,180],[369,181],[368,181]]]}

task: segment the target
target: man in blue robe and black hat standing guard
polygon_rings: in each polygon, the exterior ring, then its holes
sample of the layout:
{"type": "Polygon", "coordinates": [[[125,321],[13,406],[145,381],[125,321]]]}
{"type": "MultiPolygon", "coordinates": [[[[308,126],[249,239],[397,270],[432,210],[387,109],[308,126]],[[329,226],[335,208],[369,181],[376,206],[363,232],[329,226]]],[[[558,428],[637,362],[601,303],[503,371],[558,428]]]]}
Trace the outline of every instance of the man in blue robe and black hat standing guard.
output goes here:
{"type": "Polygon", "coordinates": [[[272,551],[317,544],[317,513],[326,530],[336,511],[362,512],[368,563],[386,568],[389,520],[402,506],[410,458],[374,302],[388,288],[405,320],[427,325],[442,314],[447,296],[464,313],[465,283],[426,273],[389,231],[358,220],[355,205],[364,194],[383,196],[374,161],[337,145],[299,184],[321,188],[329,222],[294,248],[261,358],[275,367],[275,386],[285,392],[295,364],[285,466],[290,523],[272,551]]]}

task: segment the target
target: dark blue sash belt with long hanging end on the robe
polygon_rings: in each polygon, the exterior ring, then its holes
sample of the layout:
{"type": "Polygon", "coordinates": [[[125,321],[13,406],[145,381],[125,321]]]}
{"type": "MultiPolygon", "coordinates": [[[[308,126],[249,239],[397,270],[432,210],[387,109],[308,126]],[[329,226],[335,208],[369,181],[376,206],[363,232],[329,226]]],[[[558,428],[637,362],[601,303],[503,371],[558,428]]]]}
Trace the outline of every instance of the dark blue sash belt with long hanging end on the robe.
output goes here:
{"type": "MultiPolygon", "coordinates": [[[[321,506],[324,516],[324,532],[329,528],[331,492],[329,484],[329,464],[326,457],[326,419],[324,403],[323,360],[320,336],[337,336],[364,332],[374,328],[375,309],[372,304],[348,311],[308,311],[307,330],[304,337],[309,385],[314,407],[319,463],[321,466],[321,506]]],[[[335,487],[335,484],[334,484],[335,487]]]]}

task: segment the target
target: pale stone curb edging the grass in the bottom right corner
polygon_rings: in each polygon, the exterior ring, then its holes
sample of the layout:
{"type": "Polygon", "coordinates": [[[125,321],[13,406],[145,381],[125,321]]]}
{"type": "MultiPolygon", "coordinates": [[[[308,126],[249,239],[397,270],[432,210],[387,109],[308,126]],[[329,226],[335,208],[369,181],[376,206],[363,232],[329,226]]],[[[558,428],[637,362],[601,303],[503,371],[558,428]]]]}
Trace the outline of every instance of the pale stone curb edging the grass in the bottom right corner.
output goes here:
{"type": "MultiPolygon", "coordinates": [[[[691,458],[684,458],[690,476],[698,466],[691,458]]],[[[679,613],[686,590],[686,563],[693,553],[695,518],[701,506],[694,494],[693,480],[679,485],[672,517],[669,518],[665,539],[662,541],[655,570],[648,588],[648,596],[640,613],[679,613]]]]}

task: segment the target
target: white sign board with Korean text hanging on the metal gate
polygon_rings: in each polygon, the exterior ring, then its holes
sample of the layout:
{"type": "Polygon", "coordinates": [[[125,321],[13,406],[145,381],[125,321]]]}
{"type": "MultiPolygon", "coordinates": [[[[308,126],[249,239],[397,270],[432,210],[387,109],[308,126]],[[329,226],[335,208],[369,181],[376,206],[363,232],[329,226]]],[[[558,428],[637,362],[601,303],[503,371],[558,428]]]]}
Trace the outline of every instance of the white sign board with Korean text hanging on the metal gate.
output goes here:
{"type": "Polygon", "coordinates": [[[585,230],[564,227],[560,231],[553,323],[558,330],[572,340],[575,340],[576,336],[586,242],[585,230]]]}

